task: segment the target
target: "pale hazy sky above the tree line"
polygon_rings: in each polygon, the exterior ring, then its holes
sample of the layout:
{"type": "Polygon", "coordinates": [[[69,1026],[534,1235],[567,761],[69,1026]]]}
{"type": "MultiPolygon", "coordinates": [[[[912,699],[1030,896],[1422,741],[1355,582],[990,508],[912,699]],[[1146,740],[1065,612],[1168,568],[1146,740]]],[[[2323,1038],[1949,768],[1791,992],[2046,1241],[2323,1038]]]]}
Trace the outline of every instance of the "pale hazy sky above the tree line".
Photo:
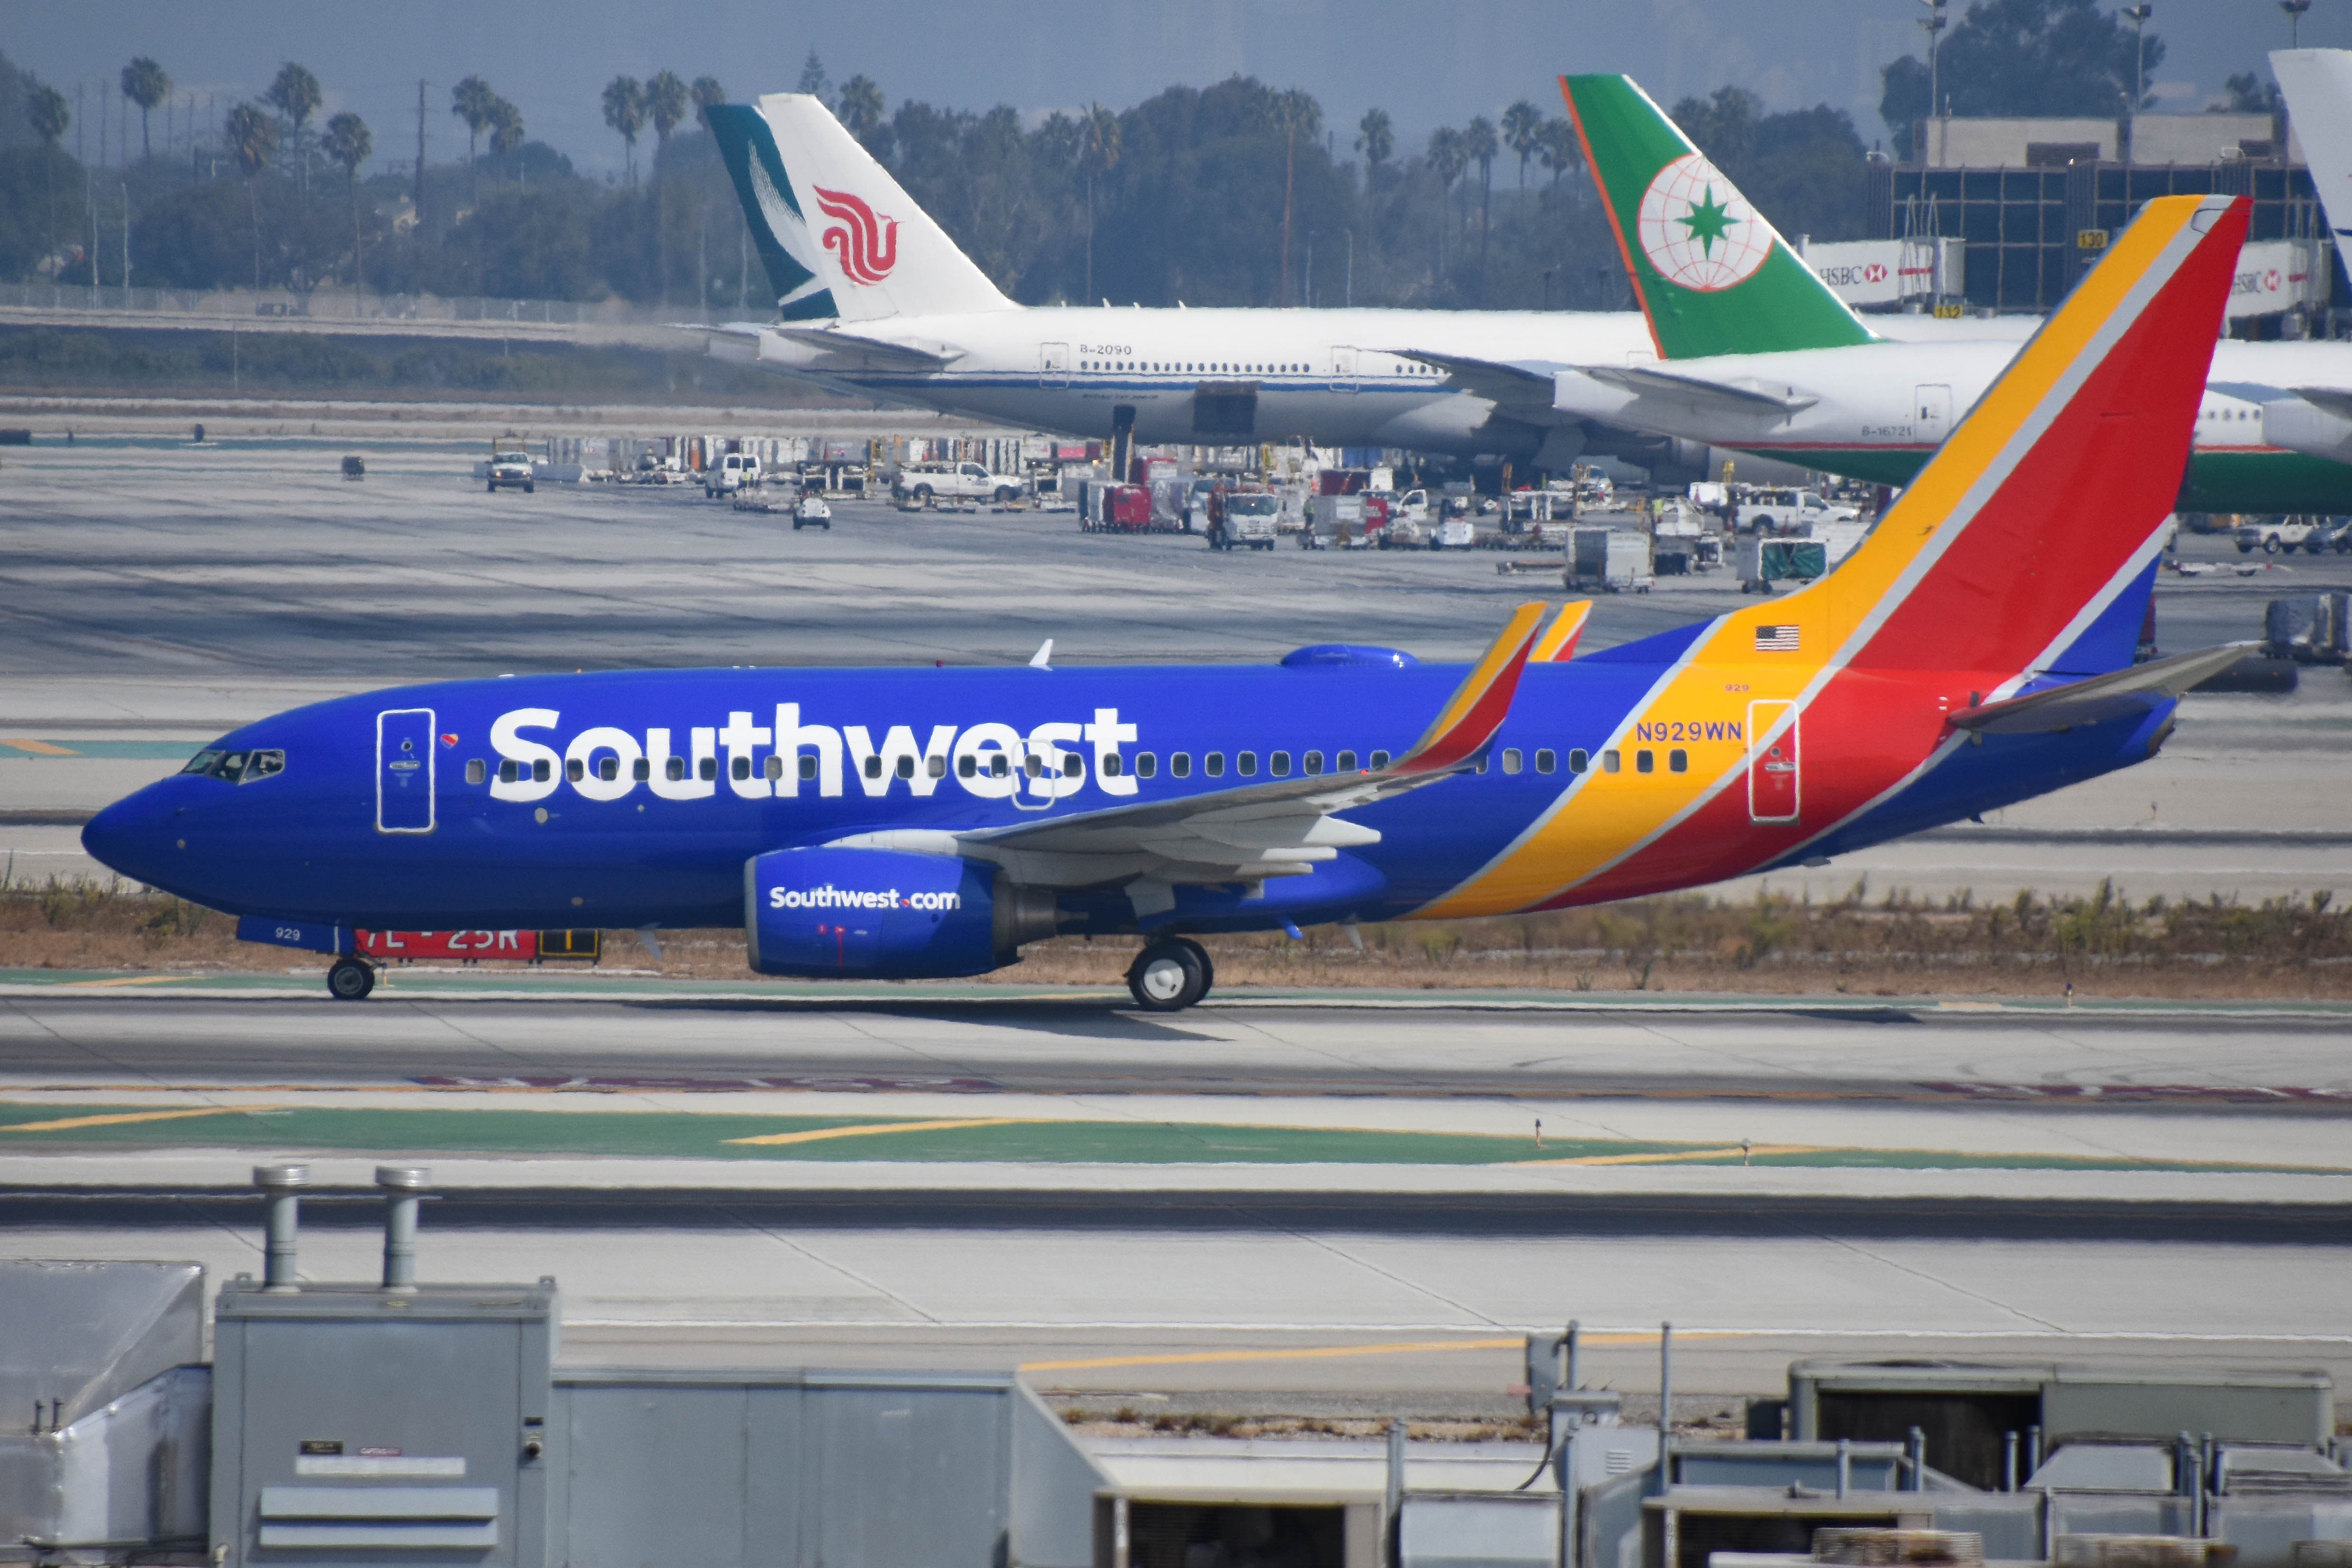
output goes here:
{"type": "MultiPolygon", "coordinates": [[[[1919,0],[0,0],[0,49],[68,96],[153,54],[181,94],[221,108],[294,59],[325,85],[325,113],[358,110],[376,155],[402,160],[416,148],[416,80],[430,82],[440,160],[463,146],[449,85],[480,73],[534,139],[600,172],[621,162],[597,106],[612,75],[710,73],[750,99],[790,89],[811,47],[835,82],[863,71],[891,106],[1028,115],[1089,99],[1127,108],[1240,71],[1312,92],[1343,150],[1371,106],[1406,148],[1522,96],[1557,113],[1559,71],[1628,71],[1668,103],[1724,82],[1771,108],[1828,101],[1867,141],[1884,136],[1877,68],[1917,47],[1919,14],[1919,0]]],[[[2286,45],[2274,0],[2157,0],[2150,26],[2171,49],[2152,80],[2178,108],[2199,108],[2230,73],[2267,71],[2263,52],[2286,45]]],[[[2303,42],[2352,47],[2352,0],[2319,0],[2303,42]]]]}

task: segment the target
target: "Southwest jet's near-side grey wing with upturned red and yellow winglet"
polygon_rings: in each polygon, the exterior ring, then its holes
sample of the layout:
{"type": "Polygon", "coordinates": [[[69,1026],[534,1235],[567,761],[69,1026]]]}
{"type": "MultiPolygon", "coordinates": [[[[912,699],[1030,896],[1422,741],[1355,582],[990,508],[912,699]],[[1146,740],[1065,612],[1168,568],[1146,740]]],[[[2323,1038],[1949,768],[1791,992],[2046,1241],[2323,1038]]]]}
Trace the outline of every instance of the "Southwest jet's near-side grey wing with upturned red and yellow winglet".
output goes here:
{"type": "Polygon", "coordinates": [[[1312,872],[1315,863],[1331,860],[1341,849],[1381,842],[1378,830],[1341,820],[1341,811],[1477,766],[1510,712],[1541,623],[1543,604],[1522,604],[1421,741],[1385,769],[1277,778],[1075,816],[1042,813],[1033,823],[971,832],[882,830],[837,844],[995,860],[1030,886],[1148,879],[1164,891],[1174,884],[1263,882],[1312,872]]]}

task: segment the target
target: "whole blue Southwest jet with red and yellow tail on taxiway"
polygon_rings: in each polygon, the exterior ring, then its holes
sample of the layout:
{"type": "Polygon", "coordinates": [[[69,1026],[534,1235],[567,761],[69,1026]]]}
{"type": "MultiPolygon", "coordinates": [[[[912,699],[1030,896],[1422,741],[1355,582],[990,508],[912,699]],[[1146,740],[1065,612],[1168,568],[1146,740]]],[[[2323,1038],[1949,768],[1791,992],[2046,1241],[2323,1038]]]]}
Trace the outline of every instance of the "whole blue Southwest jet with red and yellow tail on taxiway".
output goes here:
{"type": "Polygon", "coordinates": [[[734,926],[802,978],[1143,938],[1557,910],[1823,856],[2131,766],[2239,649],[2133,668],[2246,202],[2164,197],[1828,578],[1581,658],[1524,604],[1472,668],[633,670],[247,724],[82,832],[339,954],[367,931],[734,926]]]}

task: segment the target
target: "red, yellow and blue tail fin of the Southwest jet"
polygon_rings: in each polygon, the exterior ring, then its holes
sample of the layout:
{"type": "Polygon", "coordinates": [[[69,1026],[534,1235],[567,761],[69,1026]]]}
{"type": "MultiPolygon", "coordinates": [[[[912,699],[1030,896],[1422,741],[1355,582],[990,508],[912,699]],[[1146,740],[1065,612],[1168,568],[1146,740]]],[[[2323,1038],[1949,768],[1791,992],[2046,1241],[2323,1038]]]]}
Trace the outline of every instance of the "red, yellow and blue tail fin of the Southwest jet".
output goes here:
{"type": "Polygon", "coordinates": [[[1837,571],[1726,632],[1884,670],[2131,663],[2246,197],[2147,202],[1837,571]]]}

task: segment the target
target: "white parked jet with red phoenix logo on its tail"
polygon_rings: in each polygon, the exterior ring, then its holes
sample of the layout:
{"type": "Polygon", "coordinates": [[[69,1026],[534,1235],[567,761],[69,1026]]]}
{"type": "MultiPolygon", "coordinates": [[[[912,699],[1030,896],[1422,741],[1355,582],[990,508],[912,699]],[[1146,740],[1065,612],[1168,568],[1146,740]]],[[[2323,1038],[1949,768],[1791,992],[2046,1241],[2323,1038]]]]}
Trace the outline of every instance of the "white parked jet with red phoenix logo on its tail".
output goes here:
{"type": "Polygon", "coordinates": [[[713,329],[713,355],[1080,437],[1131,421],[1141,442],[1303,437],[1562,470],[1616,454],[1691,477],[1710,465],[1703,447],[1552,402],[1571,364],[1653,357],[1639,313],[1030,308],[988,282],[818,99],[724,103],[710,127],[779,310],[713,329]],[[1479,371],[1449,376],[1428,353],[1479,371]]]}

